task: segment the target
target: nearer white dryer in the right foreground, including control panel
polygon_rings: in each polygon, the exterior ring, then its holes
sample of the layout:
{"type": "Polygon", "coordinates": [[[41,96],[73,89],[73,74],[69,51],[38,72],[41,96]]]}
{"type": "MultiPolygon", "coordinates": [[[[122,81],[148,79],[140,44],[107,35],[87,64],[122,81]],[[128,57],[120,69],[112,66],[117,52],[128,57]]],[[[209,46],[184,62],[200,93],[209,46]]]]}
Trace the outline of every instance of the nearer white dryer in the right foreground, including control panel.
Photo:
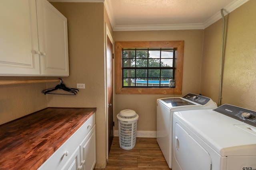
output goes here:
{"type": "Polygon", "coordinates": [[[173,123],[172,170],[256,170],[256,111],[225,104],[173,123]]]}

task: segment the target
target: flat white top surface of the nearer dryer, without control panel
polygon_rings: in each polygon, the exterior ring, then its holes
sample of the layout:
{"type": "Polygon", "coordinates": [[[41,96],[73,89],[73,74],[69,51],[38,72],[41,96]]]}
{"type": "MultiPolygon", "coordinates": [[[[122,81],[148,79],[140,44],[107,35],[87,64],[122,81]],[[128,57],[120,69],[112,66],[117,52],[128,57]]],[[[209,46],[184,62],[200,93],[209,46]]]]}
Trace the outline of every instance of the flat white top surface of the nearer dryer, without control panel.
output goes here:
{"type": "Polygon", "coordinates": [[[221,156],[256,156],[256,128],[249,124],[211,109],[174,112],[177,121],[221,156]]]}

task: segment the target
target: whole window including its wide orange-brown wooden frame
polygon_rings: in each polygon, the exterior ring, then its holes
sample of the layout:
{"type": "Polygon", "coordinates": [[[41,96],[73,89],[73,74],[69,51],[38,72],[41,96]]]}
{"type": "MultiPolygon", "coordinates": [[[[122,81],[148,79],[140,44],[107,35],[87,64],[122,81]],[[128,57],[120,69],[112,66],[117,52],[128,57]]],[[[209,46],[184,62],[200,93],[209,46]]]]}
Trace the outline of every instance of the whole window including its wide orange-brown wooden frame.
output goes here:
{"type": "Polygon", "coordinates": [[[184,41],[116,42],[116,94],[182,94],[184,41]],[[169,88],[169,79],[176,81],[169,88]]]}

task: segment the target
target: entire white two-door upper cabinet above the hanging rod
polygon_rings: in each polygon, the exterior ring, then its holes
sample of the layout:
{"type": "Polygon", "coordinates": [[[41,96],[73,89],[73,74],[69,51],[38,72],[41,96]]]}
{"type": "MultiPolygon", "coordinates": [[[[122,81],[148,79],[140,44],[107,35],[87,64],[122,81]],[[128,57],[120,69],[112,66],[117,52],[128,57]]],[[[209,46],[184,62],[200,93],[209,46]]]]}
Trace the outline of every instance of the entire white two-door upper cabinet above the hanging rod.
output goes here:
{"type": "Polygon", "coordinates": [[[68,76],[67,19],[47,0],[0,0],[0,76],[68,76]]]}

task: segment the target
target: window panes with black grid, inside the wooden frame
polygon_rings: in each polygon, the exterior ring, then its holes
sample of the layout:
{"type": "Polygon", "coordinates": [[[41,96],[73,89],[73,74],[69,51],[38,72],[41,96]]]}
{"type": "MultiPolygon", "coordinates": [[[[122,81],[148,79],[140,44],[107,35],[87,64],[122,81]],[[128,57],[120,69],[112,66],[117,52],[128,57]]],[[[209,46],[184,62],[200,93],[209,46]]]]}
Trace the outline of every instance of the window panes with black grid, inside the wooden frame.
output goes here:
{"type": "Polygon", "coordinates": [[[122,79],[123,88],[158,87],[166,88],[174,79],[175,50],[169,49],[123,49],[122,79]]]}

